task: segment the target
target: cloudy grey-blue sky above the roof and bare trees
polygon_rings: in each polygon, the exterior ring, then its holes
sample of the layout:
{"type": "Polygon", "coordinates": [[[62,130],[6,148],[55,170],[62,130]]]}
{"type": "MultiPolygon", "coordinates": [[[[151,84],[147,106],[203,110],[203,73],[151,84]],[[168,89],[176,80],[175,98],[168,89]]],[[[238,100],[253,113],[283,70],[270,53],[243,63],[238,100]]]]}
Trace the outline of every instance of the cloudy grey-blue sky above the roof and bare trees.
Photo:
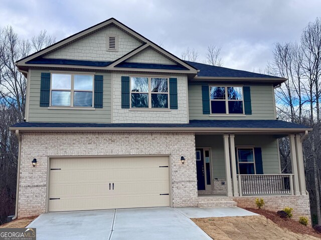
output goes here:
{"type": "Polygon", "coordinates": [[[260,71],[274,43],[299,40],[320,9],[320,0],[1,0],[0,27],[60,40],[115,17],[177,56],[191,47],[202,61],[214,44],[225,67],[260,71]]]}

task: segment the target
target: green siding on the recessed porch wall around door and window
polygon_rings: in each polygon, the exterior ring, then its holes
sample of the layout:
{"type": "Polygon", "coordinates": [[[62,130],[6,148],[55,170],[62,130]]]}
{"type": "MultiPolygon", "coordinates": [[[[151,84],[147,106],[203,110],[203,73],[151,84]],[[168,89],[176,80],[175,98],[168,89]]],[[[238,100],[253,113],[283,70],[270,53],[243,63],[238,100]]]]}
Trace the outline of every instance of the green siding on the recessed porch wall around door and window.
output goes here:
{"type": "MultiPolygon", "coordinates": [[[[211,147],[213,178],[225,178],[223,136],[195,135],[195,144],[196,148],[211,147]]],[[[273,135],[235,135],[235,146],[261,147],[264,174],[280,172],[277,140],[273,135]]]]}

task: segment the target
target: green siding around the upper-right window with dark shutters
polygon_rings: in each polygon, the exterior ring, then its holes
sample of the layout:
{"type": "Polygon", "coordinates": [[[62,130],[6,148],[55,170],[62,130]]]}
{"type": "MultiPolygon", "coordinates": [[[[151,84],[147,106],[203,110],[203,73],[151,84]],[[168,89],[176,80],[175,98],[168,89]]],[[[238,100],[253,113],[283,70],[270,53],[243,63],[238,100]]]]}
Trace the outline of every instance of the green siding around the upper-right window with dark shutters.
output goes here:
{"type": "MultiPolygon", "coordinates": [[[[224,85],[224,84],[222,84],[224,85]]],[[[244,116],[212,116],[203,114],[202,84],[189,84],[189,116],[190,120],[245,120],[245,119],[275,119],[272,85],[246,84],[251,88],[252,114],[244,116]]]]}

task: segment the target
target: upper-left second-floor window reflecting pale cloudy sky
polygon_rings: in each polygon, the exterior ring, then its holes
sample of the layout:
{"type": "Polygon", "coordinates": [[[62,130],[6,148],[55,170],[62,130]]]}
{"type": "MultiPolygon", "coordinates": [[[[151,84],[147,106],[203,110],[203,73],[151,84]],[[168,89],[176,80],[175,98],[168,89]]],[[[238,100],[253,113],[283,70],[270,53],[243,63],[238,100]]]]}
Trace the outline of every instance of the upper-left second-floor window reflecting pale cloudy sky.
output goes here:
{"type": "Polygon", "coordinates": [[[52,73],[51,106],[93,106],[93,75],[52,73]]]}

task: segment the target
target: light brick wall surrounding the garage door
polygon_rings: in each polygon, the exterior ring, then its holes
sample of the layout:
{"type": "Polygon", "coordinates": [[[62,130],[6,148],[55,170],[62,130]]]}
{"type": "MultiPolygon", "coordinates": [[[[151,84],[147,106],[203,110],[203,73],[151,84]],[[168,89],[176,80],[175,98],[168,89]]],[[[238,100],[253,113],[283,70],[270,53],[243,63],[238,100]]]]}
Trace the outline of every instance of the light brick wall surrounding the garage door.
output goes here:
{"type": "Polygon", "coordinates": [[[173,206],[197,206],[193,133],[23,133],[19,217],[46,210],[48,156],[131,154],[169,154],[173,206]],[[37,158],[36,167],[31,164],[33,158],[37,158]]]}

